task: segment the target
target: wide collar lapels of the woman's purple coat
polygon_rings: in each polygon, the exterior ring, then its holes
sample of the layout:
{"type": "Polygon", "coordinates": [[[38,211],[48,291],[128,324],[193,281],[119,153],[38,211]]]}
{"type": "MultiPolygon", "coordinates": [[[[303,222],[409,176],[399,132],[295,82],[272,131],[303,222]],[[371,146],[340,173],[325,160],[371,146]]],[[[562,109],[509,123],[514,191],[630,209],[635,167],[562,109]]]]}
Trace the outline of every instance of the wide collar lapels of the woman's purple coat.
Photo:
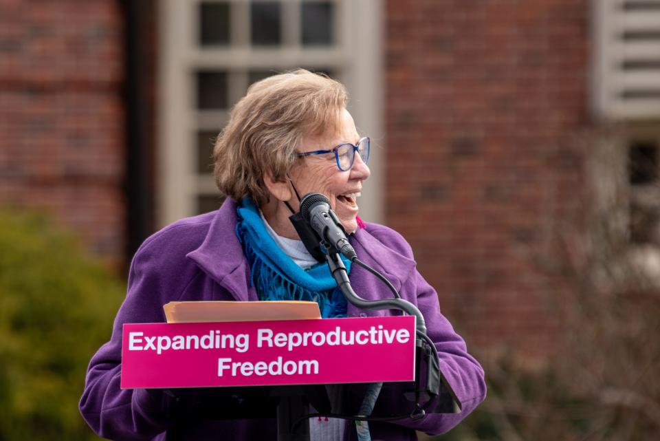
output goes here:
{"type": "MultiPolygon", "coordinates": [[[[259,297],[250,281],[250,268],[243,254],[243,246],[236,237],[236,208],[238,204],[231,198],[227,198],[218,211],[215,212],[210,224],[206,238],[201,246],[186,255],[197,263],[197,266],[217,281],[221,286],[227,288],[234,299],[238,301],[255,301],[259,297]]],[[[366,228],[360,228],[351,235],[350,241],[358,253],[360,260],[381,272],[399,290],[401,283],[415,268],[415,261],[399,254],[392,248],[386,246],[380,239],[370,233],[370,224],[366,228]]],[[[384,232],[383,235],[394,234],[384,232]]],[[[351,270],[351,282],[358,288],[366,288],[374,278],[372,275],[353,266],[351,270]]],[[[374,279],[375,280],[375,279],[374,279]]],[[[369,289],[373,291],[373,289],[369,289]]],[[[360,292],[362,295],[363,292],[360,292]]],[[[375,295],[375,292],[373,292],[375,295]]],[[[364,293],[366,299],[375,298],[364,293]]]]}

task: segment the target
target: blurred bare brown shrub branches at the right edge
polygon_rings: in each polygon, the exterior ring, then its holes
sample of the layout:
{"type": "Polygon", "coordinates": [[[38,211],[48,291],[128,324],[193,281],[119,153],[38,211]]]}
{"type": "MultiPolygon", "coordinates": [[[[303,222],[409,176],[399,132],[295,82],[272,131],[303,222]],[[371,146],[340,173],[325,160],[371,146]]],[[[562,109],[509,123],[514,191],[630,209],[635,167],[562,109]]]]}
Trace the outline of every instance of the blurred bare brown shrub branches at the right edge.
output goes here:
{"type": "MultiPolygon", "coordinates": [[[[520,249],[556,282],[560,351],[540,369],[529,369],[514,349],[485,365],[489,396],[466,420],[480,440],[657,438],[660,277],[647,263],[660,247],[631,240],[635,201],[621,130],[574,141],[584,188],[568,215],[539,226],[551,246],[520,249]]],[[[461,430],[440,439],[460,440],[461,430]]]]}

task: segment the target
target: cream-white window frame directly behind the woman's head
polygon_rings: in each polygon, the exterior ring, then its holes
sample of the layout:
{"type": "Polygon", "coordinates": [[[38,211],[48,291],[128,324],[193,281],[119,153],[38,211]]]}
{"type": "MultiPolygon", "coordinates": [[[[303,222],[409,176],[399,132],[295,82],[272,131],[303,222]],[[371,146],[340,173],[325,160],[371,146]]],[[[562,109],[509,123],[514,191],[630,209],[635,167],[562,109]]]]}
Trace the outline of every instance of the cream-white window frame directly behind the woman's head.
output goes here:
{"type": "MultiPolygon", "coordinates": [[[[227,1],[227,0],[223,0],[227,1]]],[[[247,20],[249,0],[232,2],[232,20],[247,20]]],[[[272,0],[275,1],[275,0],[272,0]]],[[[296,41],[300,32],[297,12],[301,0],[279,0],[283,5],[283,42],[296,41]]],[[[313,1],[313,0],[312,0],[313,1]]],[[[159,2],[159,75],[157,114],[157,195],[158,226],[170,224],[196,213],[197,196],[216,193],[211,175],[197,173],[198,129],[221,129],[226,111],[199,114],[195,109],[195,72],[200,67],[226,69],[228,101],[247,84],[245,76],[232,76],[237,69],[289,69],[298,65],[339,67],[339,79],[347,86],[349,110],[358,130],[372,138],[369,160],[371,178],[364,184],[360,215],[370,222],[384,217],[384,132],[382,127],[382,0],[335,0],[337,45],[331,48],[278,47],[253,48],[248,45],[250,30],[232,26],[232,41],[245,44],[203,49],[197,39],[197,11],[201,0],[161,0],[159,2]]]]}

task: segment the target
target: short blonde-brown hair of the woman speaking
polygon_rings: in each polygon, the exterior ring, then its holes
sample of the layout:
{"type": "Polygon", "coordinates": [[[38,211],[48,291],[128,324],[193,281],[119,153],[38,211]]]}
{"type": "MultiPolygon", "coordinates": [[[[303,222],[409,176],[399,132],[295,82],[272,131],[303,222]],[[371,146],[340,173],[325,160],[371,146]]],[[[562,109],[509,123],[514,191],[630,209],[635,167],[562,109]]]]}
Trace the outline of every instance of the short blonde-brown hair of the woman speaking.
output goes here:
{"type": "Polygon", "coordinates": [[[263,178],[283,182],[305,136],[332,133],[347,104],[344,85],[305,69],[254,83],[232,109],[213,149],[218,189],[234,200],[269,199],[263,178]]]}

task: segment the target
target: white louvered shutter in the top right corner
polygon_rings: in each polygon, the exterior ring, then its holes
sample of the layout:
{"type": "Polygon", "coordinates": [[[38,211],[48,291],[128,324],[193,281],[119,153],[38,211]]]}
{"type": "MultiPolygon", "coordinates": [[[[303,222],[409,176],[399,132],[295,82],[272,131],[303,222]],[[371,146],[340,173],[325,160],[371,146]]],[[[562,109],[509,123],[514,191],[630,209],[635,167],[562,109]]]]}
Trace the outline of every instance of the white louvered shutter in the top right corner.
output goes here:
{"type": "Polygon", "coordinates": [[[660,118],[660,0],[593,2],[598,114],[660,118]]]}

